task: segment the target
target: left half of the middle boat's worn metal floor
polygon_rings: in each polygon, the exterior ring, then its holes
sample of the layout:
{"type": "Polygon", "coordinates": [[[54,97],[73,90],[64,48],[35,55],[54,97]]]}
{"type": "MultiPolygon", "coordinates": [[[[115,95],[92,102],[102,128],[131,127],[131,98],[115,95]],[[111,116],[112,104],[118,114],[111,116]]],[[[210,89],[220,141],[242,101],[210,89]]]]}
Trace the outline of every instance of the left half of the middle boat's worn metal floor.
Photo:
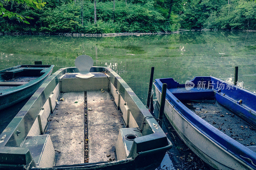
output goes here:
{"type": "Polygon", "coordinates": [[[84,91],[60,93],[45,134],[55,149],[55,166],[84,163],[84,91]]]}

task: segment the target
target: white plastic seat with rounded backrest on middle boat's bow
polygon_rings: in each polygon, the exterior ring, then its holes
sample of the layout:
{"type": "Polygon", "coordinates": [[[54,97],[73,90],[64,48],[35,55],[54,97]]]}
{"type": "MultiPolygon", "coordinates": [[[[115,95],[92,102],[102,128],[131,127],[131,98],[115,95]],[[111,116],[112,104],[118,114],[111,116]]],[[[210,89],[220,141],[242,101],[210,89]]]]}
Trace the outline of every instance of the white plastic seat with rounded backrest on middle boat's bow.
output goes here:
{"type": "Polygon", "coordinates": [[[78,78],[88,79],[93,77],[94,74],[90,73],[90,69],[93,66],[93,60],[89,55],[79,55],[75,60],[75,66],[79,70],[78,78]]]}

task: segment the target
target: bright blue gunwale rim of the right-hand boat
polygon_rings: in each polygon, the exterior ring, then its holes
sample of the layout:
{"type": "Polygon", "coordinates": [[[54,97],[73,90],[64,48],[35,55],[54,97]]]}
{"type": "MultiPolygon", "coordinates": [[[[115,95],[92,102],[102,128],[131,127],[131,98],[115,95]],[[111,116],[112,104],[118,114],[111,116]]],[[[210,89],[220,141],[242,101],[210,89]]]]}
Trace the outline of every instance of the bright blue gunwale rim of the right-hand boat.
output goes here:
{"type": "MultiPolygon", "coordinates": [[[[200,77],[204,77],[204,76],[200,76],[200,77]]],[[[212,77],[212,76],[207,76],[207,77],[212,77]]],[[[216,79],[219,81],[222,81],[218,78],[216,78],[216,79]]],[[[224,81],[224,82],[228,83],[226,81],[224,81]]],[[[159,93],[161,93],[162,86],[163,86],[161,79],[156,79],[153,84],[156,87],[156,89],[159,91],[159,93]]],[[[228,84],[230,84],[230,83],[228,83],[228,84]]],[[[242,88],[239,88],[239,89],[242,89],[242,88]]],[[[244,90],[244,89],[242,89],[242,90],[244,90]]],[[[247,92],[247,90],[244,90],[244,91],[247,92]]],[[[250,93],[252,94],[252,92],[250,92],[250,93]]],[[[255,95],[255,94],[253,94],[253,95],[255,95]]],[[[230,153],[231,155],[234,155],[236,157],[236,159],[243,161],[247,165],[249,164],[250,167],[256,169],[256,165],[255,165],[256,153],[255,152],[253,152],[251,149],[247,148],[246,146],[242,145],[241,143],[237,142],[235,139],[229,137],[222,131],[219,131],[214,126],[212,126],[211,124],[206,122],[203,118],[196,115],[196,113],[189,110],[168,89],[166,91],[166,101],[173,107],[173,109],[175,109],[177,111],[177,113],[179,113],[182,117],[184,117],[184,120],[186,120],[189,124],[191,124],[192,127],[194,127],[202,135],[209,138],[210,141],[212,141],[215,145],[219,146],[222,150],[230,153]],[[215,137],[212,137],[212,134],[214,134],[215,137]],[[232,147],[230,147],[230,145],[232,147]],[[247,158],[248,156],[250,158],[247,158]],[[248,159],[250,159],[251,161],[248,161],[248,159]]]]}

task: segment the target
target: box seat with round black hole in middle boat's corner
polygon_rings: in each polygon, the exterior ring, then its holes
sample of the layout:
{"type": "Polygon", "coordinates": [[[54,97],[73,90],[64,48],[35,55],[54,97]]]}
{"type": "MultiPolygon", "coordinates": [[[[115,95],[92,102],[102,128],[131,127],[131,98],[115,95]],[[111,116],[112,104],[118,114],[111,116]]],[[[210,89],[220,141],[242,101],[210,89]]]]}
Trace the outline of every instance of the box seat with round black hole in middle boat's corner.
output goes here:
{"type": "Polygon", "coordinates": [[[116,142],[117,160],[126,159],[131,151],[133,139],[141,136],[137,128],[121,128],[116,142]]]}

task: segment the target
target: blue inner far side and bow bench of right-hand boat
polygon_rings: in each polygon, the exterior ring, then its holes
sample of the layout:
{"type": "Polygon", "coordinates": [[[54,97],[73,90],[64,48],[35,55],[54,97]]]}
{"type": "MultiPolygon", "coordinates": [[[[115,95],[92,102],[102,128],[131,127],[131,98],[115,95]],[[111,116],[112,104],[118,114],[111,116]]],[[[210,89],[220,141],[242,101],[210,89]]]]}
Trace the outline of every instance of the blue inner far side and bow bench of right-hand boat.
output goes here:
{"type": "Polygon", "coordinates": [[[180,84],[173,78],[159,79],[159,81],[166,83],[167,89],[180,101],[218,102],[252,125],[256,125],[256,94],[252,92],[215,77],[195,77],[186,83],[187,85],[180,84]],[[188,84],[194,84],[194,87],[188,84]]]}

